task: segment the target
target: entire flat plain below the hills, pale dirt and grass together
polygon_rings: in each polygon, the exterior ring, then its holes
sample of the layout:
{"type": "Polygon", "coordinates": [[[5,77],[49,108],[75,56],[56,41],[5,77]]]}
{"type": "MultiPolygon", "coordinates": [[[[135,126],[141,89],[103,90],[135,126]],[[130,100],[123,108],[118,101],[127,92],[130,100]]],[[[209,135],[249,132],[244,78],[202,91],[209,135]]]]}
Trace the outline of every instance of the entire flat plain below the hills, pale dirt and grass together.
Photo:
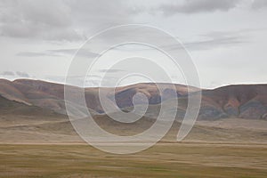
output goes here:
{"type": "Polygon", "coordinates": [[[266,125],[239,118],[203,121],[174,142],[176,124],[150,149],[116,155],[85,144],[66,118],[2,117],[0,177],[265,178],[266,125]]]}

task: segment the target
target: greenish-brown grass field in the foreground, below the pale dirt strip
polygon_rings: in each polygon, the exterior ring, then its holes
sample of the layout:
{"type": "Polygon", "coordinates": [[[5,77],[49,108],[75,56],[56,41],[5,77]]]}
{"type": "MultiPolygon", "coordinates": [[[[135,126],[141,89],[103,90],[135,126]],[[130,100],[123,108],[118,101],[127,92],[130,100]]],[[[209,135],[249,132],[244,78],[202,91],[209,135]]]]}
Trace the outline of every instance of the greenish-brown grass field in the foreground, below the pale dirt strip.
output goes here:
{"type": "Polygon", "coordinates": [[[158,143],[133,155],[88,145],[0,145],[0,177],[267,177],[266,144],[158,143]]]}

